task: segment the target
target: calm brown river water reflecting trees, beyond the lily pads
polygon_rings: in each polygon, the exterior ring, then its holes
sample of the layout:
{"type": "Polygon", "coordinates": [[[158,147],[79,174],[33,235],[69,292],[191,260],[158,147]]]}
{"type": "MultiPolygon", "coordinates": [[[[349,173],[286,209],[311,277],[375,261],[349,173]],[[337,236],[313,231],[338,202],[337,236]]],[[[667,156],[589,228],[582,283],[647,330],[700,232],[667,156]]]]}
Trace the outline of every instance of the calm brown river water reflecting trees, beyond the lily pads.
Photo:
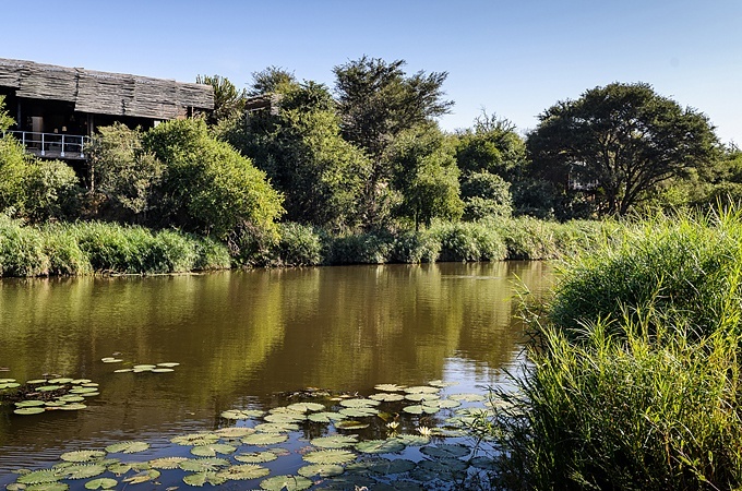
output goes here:
{"type": "Polygon", "coordinates": [[[212,430],[285,391],[483,391],[518,362],[517,282],[539,292],[550,279],[548,264],[501,262],[1,280],[0,379],[85,378],[100,395],[76,412],[1,408],[0,484],[71,450],[212,430]],[[100,361],[115,354],[124,361],[100,361]],[[168,361],[181,364],[113,373],[168,361]]]}

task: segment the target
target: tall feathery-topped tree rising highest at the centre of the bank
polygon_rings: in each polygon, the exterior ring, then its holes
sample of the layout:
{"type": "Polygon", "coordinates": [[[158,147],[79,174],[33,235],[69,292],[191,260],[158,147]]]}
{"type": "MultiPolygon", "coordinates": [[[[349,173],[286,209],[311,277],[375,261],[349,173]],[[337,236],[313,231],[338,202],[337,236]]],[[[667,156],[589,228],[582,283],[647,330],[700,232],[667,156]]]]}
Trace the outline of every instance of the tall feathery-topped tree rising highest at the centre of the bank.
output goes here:
{"type": "Polygon", "coordinates": [[[344,137],[371,158],[364,189],[364,215],[369,227],[383,220],[383,196],[393,173],[390,149],[404,131],[450,112],[452,101],[441,89],[446,72],[408,76],[404,60],[387,63],[378,58],[335,67],[336,93],[344,137]]]}

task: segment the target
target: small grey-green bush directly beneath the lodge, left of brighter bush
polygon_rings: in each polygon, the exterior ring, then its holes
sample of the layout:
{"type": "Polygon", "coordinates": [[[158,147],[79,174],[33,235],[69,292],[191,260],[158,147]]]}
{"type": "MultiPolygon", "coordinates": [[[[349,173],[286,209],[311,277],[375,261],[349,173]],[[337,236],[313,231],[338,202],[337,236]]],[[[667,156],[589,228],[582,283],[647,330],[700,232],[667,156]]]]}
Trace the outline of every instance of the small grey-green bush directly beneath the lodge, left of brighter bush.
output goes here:
{"type": "Polygon", "coordinates": [[[142,146],[142,131],[121,123],[98,128],[88,153],[91,193],[103,195],[100,216],[145,223],[156,209],[165,166],[142,146]]]}

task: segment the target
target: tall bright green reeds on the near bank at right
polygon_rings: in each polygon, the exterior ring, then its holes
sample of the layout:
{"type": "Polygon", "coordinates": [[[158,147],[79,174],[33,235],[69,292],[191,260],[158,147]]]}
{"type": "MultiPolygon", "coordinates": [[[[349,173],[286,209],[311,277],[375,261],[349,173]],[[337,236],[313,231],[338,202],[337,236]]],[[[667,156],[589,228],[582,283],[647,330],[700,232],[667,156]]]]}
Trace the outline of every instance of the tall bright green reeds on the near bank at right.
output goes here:
{"type": "Polygon", "coordinates": [[[566,262],[482,422],[506,489],[742,486],[742,214],[659,217],[566,262]]]}

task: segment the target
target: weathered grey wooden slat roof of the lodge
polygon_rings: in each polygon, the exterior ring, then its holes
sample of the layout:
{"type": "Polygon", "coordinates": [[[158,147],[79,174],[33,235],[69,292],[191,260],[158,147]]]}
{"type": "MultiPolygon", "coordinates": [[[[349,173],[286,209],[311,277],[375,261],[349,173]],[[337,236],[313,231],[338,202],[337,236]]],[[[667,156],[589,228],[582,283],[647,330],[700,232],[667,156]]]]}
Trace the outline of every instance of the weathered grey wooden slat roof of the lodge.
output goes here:
{"type": "Polygon", "coordinates": [[[173,119],[189,107],[214,109],[211,85],[4,58],[0,87],[15,88],[19,97],[74,103],[75,110],[96,115],[173,119]]]}

